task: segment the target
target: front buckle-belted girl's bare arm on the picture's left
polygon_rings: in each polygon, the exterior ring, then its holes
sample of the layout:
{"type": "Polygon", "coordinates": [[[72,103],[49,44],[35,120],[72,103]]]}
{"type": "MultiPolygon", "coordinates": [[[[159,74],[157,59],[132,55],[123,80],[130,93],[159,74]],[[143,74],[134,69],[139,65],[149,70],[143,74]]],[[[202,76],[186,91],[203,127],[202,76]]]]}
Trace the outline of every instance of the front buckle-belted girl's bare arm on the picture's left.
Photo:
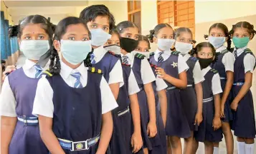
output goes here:
{"type": "Polygon", "coordinates": [[[38,116],[40,135],[47,146],[48,150],[52,154],[65,154],[60,146],[59,141],[52,131],[52,118],[46,116],[38,116]]]}

